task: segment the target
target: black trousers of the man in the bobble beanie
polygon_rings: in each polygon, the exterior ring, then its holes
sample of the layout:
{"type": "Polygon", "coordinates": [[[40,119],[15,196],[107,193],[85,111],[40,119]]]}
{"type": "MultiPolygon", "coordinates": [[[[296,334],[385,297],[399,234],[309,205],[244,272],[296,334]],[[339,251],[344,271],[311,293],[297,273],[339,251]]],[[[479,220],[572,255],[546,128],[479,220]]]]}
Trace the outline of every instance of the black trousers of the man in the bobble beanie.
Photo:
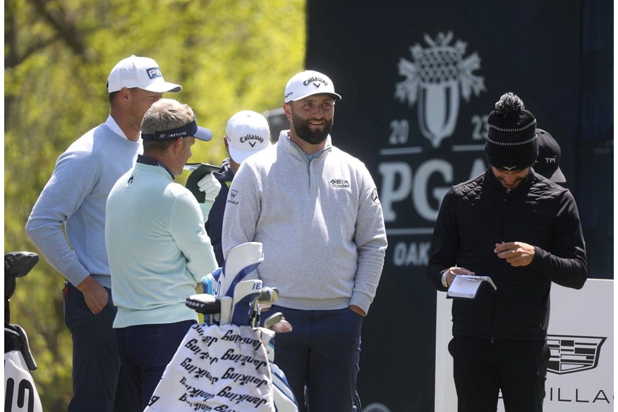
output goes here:
{"type": "Polygon", "coordinates": [[[550,350],[546,341],[454,337],[449,343],[459,412],[542,412],[550,350]]]}

